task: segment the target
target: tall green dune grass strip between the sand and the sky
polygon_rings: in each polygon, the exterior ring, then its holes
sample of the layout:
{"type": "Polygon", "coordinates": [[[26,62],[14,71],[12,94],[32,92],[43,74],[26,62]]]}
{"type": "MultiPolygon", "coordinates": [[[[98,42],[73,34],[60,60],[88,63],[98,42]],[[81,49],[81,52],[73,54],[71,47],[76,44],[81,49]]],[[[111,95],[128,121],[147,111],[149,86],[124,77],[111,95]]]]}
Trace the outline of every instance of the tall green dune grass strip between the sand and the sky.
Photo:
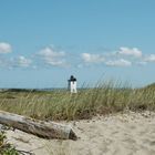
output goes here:
{"type": "Polygon", "coordinates": [[[39,120],[81,120],[124,110],[155,110],[155,89],[132,89],[122,83],[99,83],[92,89],[0,92],[0,110],[39,120]]]}

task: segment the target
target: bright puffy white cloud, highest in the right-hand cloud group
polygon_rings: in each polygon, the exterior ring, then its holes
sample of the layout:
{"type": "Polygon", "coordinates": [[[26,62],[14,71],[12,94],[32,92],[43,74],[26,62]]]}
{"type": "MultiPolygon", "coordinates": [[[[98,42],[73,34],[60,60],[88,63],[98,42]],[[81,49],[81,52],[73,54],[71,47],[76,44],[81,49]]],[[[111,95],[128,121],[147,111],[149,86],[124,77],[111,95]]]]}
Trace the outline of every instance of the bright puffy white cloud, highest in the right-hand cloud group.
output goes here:
{"type": "Polygon", "coordinates": [[[138,50],[137,48],[130,49],[130,48],[122,46],[120,48],[120,51],[117,53],[126,56],[135,56],[135,58],[142,56],[142,51],[138,50]]]}

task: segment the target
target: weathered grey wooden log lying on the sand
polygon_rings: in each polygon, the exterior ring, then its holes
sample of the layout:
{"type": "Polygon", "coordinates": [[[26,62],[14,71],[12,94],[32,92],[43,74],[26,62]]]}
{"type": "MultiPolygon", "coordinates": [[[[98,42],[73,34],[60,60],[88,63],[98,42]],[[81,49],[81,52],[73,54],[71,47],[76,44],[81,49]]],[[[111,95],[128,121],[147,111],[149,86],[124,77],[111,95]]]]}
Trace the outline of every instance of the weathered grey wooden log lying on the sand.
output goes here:
{"type": "Polygon", "coordinates": [[[45,138],[76,140],[70,126],[54,122],[43,122],[30,117],[0,111],[0,124],[45,138]]]}

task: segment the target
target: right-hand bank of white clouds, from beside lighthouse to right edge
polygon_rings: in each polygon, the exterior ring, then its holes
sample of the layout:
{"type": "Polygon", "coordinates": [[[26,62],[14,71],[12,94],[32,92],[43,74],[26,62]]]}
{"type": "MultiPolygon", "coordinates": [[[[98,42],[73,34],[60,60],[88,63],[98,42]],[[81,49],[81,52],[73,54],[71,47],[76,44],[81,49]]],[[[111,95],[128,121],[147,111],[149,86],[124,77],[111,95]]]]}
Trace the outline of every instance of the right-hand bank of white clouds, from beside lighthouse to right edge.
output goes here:
{"type": "Polygon", "coordinates": [[[116,51],[108,53],[82,53],[81,59],[84,64],[95,65],[101,63],[107,66],[132,66],[132,65],[146,65],[147,63],[155,62],[155,54],[145,55],[138,48],[121,46],[116,51]]]}

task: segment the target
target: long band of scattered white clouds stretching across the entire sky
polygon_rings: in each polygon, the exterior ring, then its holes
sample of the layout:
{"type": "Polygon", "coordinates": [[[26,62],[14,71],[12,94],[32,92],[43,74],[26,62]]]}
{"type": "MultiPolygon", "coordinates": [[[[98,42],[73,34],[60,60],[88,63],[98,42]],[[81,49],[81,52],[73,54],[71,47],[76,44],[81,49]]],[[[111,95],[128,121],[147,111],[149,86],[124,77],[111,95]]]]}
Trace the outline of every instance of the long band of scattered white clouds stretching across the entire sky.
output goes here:
{"type": "MultiPolygon", "coordinates": [[[[0,42],[0,68],[86,68],[92,65],[105,65],[111,68],[127,68],[133,65],[146,65],[155,62],[155,54],[144,54],[138,48],[121,46],[115,51],[96,53],[69,53],[53,46],[40,49],[30,56],[17,55],[8,58],[12,52],[9,43],[0,42]],[[8,55],[8,56],[7,56],[8,55]]],[[[14,52],[14,51],[13,51],[14,52]]]]}

